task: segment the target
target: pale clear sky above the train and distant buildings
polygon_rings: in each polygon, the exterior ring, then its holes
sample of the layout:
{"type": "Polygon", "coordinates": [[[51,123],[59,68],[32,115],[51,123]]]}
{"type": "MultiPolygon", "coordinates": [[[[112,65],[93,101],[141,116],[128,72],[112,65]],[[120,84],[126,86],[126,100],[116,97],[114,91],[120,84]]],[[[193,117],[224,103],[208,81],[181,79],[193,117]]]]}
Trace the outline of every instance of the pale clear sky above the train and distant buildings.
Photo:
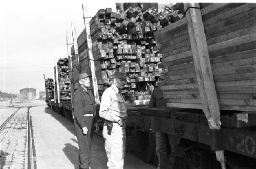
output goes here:
{"type": "Polygon", "coordinates": [[[37,94],[44,91],[43,74],[53,78],[53,64],[68,57],[66,33],[71,32],[71,23],[77,37],[84,29],[82,4],[87,16],[93,17],[99,9],[112,8],[116,12],[115,3],[114,0],[1,1],[0,90],[13,94],[26,87],[35,88],[37,94]]]}

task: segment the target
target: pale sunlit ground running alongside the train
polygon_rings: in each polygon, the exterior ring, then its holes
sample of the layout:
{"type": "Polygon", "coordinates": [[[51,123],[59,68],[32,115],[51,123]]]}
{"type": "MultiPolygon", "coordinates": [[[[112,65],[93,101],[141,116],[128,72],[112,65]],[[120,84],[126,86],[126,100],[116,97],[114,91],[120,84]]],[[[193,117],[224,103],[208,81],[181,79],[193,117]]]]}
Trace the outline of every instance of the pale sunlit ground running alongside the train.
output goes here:
{"type": "MultiPolygon", "coordinates": [[[[14,102],[14,107],[8,107],[9,103],[0,103],[0,119],[1,124],[19,107],[31,106],[31,120],[34,141],[34,162],[36,168],[78,168],[78,143],[75,136],[74,124],[71,120],[62,117],[58,113],[47,108],[44,100],[29,101],[29,102],[14,102]]],[[[20,113],[23,114],[24,113],[20,113]]],[[[99,131],[101,132],[101,131],[99,131]]],[[[23,132],[24,135],[25,132],[23,132]]],[[[1,135],[1,133],[0,133],[1,135]]],[[[8,137],[8,132],[5,137],[15,140],[16,137],[8,137]]],[[[26,136],[24,136],[25,138],[26,136]]],[[[19,138],[20,139],[20,138],[19,138]]],[[[1,140],[2,148],[8,146],[8,141],[1,140]],[[5,144],[5,145],[4,145],[5,144]]],[[[25,143],[23,143],[25,144],[25,143]]],[[[25,145],[22,145],[25,149],[25,145]]],[[[19,148],[20,149],[20,148],[19,148]]],[[[3,149],[1,149],[3,150],[3,149]]],[[[7,151],[7,149],[6,149],[7,151]]],[[[9,151],[6,154],[5,150],[1,151],[1,155],[5,154],[5,159],[13,156],[9,151]],[[8,157],[9,156],[9,157],[8,157]]],[[[92,144],[92,161],[91,168],[106,168],[106,155],[104,150],[104,140],[100,134],[94,134],[92,144]]],[[[14,154],[18,156],[18,154],[14,154]]],[[[25,160],[25,159],[20,159],[25,160]]],[[[19,162],[22,163],[22,162],[19,162]]],[[[7,165],[7,161],[3,162],[7,165]]],[[[8,163],[15,165],[15,161],[8,163]]],[[[9,166],[8,166],[9,167],[9,166]]],[[[3,168],[8,168],[3,166],[3,168]]],[[[146,164],[132,153],[126,152],[124,168],[145,168],[153,169],[154,166],[146,164]]]]}

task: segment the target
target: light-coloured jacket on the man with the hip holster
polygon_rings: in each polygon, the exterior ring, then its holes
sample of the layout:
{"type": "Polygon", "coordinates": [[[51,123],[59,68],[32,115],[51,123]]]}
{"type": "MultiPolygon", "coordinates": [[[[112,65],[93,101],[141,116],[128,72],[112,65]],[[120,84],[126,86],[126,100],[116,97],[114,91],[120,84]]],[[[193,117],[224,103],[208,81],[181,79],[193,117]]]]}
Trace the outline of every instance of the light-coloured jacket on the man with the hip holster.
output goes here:
{"type": "Polygon", "coordinates": [[[123,119],[127,118],[125,100],[115,84],[112,84],[103,92],[99,116],[111,122],[118,122],[120,117],[123,119]]]}

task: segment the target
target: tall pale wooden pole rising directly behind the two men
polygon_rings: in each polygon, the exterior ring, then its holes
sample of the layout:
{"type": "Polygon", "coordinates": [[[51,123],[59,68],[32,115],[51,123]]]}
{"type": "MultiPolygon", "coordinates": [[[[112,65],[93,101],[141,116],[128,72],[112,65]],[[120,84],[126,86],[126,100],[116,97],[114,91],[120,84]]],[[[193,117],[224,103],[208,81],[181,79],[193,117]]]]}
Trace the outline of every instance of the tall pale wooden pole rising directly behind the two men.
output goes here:
{"type": "Polygon", "coordinates": [[[87,19],[90,17],[87,16],[86,8],[83,8],[83,5],[82,5],[82,11],[83,11],[84,27],[86,28],[86,35],[87,35],[87,45],[88,45],[88,53],[89,53],[89,60],[90,60],[90,69],[92,73],[95,104],[99,105],[100,101],[99,101],[98,83],[97,83],[96,74],[95,74],[95,64],[94,64],[93,50],[92,50],[93,45],[92,45],[89,21],[87,21],[87,19]]]}

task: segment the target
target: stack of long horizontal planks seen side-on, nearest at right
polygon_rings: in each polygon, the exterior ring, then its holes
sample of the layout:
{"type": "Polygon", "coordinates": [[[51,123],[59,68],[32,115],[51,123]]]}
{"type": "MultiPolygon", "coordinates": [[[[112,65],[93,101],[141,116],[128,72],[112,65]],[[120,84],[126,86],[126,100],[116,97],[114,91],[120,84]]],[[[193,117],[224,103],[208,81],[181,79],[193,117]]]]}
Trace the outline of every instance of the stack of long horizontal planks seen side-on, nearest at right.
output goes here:
{"type": "MultiPolygon", "coordinates": [[[[221,110],[256,110],[256,4],[200,4],[221,110]]],[[[183,9],[184,11],[184,9],[183,9]]],[[[186,18],[155,33],[167,107],[202,108],[186,18]]]]}

